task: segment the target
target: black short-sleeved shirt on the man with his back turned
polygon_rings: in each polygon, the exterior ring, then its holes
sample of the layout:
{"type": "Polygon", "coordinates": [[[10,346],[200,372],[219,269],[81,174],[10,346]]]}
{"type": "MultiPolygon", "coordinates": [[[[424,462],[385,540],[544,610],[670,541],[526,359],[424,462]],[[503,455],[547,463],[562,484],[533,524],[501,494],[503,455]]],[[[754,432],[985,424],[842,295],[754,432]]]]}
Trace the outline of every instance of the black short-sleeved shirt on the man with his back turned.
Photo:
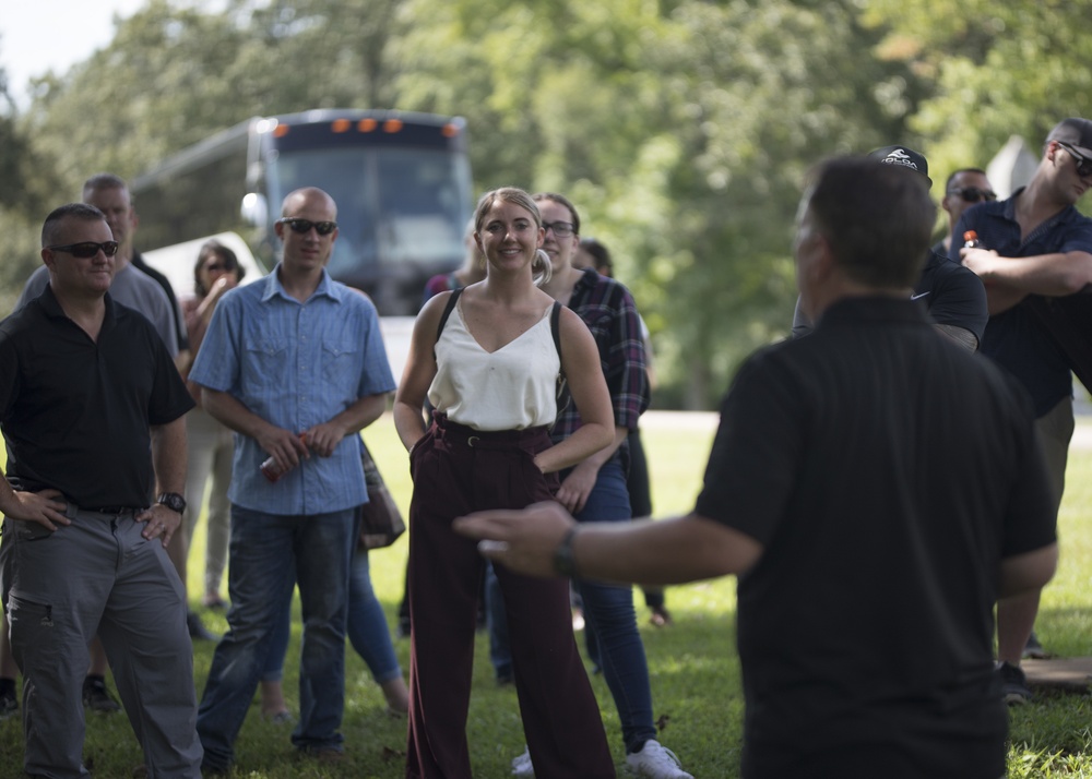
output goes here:
{"type": "Polygon", "coordinates": [[[1030,398],[915,303],[841,301],[748,360],[696,507],[763,544],[744,776],[1002,776],[999,561],[1054,540],[1052,506],[1030,398]]]}

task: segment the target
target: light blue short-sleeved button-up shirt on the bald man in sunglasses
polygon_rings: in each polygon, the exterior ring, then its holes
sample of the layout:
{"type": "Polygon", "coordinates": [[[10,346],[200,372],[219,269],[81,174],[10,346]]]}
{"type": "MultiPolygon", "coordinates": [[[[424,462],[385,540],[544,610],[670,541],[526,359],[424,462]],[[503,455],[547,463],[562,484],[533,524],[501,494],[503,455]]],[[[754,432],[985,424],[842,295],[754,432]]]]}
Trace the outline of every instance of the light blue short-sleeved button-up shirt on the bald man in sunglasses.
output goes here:
{"type": "MultiPolygon", "coordinates": [[[[323,271],[314,293],[300,303],[285,292],[278,268],[223,297],[189,377],[297,433],[361,397],[394,389],[371,301],[323,271]]],[[[254,439],[235,434],[233,503],[301,516],[368,500],[356,435],[346,436],[330,457],[301,460],[275,483],[260,470],[268,456],[254,439]]]]}

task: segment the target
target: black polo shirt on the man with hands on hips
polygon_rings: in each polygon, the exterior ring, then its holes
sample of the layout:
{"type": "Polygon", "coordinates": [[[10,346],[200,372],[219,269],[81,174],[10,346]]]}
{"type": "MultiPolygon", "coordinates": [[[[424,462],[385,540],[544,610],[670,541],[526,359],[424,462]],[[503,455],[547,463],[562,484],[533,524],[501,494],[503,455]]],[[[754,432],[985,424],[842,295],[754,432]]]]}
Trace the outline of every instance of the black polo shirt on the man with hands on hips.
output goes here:
{"type": "Polygon", "coordinates": [[[46,290],[0,322],[0,427],[16,490],[60,490],[82,507],[146,506],[149,426],[193,400],[152,324],[106,296],[97,341],[46,290]]]}

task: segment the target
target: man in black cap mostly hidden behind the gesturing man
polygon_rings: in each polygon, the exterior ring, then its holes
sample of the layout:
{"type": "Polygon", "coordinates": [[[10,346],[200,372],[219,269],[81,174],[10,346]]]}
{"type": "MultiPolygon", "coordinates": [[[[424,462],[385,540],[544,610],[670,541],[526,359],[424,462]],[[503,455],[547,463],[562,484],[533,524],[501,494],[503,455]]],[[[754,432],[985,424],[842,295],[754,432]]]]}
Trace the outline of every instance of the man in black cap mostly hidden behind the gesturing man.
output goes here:
{"type": "MultiPolygon", "coordinates": [[[[925,155],[902,145],[883,146],[869,152],[869,157],[921,173],[933,187],[929,160],[925,155]]],[[[931,249],[925,257],[922,276],[911,295],[925,305],[936,328],[961,346],[974,351],[982,340],[989,314],[986,290],[973,273],[931,249]]],[[[793,337],[811,331],[811,322],[800,311],[799,301],[793,316],[793,337]]]]}

